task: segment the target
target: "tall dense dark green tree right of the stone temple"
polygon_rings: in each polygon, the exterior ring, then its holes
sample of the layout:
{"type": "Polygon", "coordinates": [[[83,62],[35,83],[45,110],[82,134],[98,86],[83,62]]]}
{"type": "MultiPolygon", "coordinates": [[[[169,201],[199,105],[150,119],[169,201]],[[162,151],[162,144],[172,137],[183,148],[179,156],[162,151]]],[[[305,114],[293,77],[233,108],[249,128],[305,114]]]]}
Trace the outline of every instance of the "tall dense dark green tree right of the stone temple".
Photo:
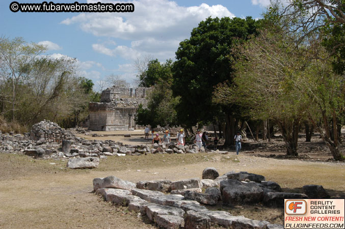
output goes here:
{"type": "Polygon", "coordinates": [[[192,127],[199,122],[212,122],[224,112],[225,145],[233,144],[233,135],[240,117],[235,106],[212,102],[214,86],[228,80],[232,83],[231,55],[234,44],[257,34],[260,21],[251,17],[207,18],[193,28],[191,37],[180,42],[173,65],[173,95],[181,96],[176,107],[178,122],[192,127]]]}

